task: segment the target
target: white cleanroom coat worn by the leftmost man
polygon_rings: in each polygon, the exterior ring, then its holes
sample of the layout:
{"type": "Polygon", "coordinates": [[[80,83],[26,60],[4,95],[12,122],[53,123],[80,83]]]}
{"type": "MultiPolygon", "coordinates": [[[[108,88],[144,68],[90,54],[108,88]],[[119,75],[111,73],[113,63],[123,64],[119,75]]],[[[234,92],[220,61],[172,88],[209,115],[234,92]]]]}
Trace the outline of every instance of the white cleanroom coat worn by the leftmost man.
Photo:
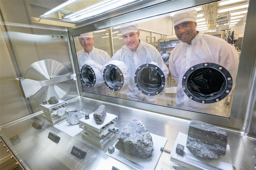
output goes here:
{"type": "MultiPolygon", "coordinates": [[[[77,61],[78,61],[79,71],[80,71],[80,68],[85,64],[85,62],[87,62],[89,60],[93,60],[94,62],[99,64],[98,66],[96,66],[96,68],[99,68],[99,69],[102,68],[103,65],[105,65],[110,60],[110,56],[108,55],[108,53],[106,51],[100,50],[95,47],[93,47],[92,51],[90,51],[89,53],[86,53],[84,51],[84,49],[78,51],[76,53],[76,57],[77,57],[77,61]]],[[[92,65],[92,66],[95,67],[95,65],[92,65]]],[[[102,71],[102,69],[100,69],[100,74],[101,74],[101,71],[102,71]]],[[[102,75],[100,75],[100,76],[102,76],[102,75]]],[[[89,93],[107,95],[107,93],[106,93],[107,87],[106,87],[105,83],[102,83],[98,87],[86,87],[83,90],[85,92],[89,92],[89,93]]]]}

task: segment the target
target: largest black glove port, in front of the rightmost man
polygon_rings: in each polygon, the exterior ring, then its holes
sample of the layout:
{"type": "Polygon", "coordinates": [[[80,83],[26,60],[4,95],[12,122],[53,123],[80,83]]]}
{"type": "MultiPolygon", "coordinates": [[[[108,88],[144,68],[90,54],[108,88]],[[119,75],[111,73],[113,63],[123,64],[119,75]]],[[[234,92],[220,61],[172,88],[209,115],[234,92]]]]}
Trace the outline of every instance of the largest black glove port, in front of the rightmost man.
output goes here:
{"type": "Polygon", "coordinates": [[[189,68],[183,76],[185,94],[199,103],[214,103],[224,99],[232,89],[229,71],[215,63],[201,63],[189,68]]]}

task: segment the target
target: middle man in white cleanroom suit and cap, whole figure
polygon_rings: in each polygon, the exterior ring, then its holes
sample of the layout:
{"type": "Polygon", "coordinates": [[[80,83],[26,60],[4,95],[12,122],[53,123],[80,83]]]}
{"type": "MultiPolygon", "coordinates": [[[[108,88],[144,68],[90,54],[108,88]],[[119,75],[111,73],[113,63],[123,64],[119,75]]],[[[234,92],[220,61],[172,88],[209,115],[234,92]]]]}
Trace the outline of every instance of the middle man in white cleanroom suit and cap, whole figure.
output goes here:
{"type": "MultiPolygon", "coordinates": [[[[131,79],[128,85],[127,98],[135,101],[154,103],[156,96],[147,96],[140,93],[134,82],[134,74],[137,68],[142,64],[154,62],[164,72],[165,78],[169,70],[164,64],[158,50],[150,44],[139,39],[139,29],[137,24],[124,24],[120,27],[123,42],[125,45],[119,49],[111,60],[118,60],[125,63],[130,73],[131,79]]],[[[153,64],[154,64],[153,63],[153,64]]]]}

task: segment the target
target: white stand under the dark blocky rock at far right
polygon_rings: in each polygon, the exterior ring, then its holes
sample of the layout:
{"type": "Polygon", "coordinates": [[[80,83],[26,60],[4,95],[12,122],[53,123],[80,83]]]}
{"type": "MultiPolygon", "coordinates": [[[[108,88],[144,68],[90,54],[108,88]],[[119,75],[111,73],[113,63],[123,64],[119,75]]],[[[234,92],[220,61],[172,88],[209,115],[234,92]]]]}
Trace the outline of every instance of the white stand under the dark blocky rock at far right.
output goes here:
{"type": "Polygon", "coordinates": [[[229,145],[226,147],[226,154],[224,156],[218,156],[217,159],[202,159],[196,157],[186,147],[187,137],[188,135],[179,132],[176,138],[170,154],[170,160],[178,165],[173,164],[173,167],[178,169],[180,169],[180,167],[183,169],[233,169],[229,145]],[[177,144],[185,146],[183,156],[175,152],[177,144]]]}

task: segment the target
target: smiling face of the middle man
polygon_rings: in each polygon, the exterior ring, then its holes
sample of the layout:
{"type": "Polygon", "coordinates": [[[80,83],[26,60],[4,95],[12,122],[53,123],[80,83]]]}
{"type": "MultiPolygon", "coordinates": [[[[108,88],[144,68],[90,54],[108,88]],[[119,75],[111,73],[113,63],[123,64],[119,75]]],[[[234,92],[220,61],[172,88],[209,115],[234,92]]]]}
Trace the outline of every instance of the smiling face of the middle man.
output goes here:
{"type": "Polygon", "coordinates": [[[130,50],[136,51],[139,47],[139,31],[126,33],[122,35],[122,38],[126,47],[130,50]]]}

